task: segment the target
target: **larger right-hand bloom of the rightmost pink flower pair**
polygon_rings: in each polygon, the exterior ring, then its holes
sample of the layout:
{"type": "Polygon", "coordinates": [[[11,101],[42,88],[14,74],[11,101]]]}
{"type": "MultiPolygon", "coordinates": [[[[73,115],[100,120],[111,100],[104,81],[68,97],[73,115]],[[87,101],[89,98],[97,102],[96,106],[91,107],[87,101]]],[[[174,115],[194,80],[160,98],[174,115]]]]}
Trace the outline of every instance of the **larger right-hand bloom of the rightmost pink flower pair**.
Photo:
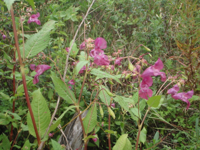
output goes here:
{"type": "Polygon", "coordinates": [[[186,102],[187,103],[186,109],[188,110],[188,108],[190,107],[190,101],[188,99],[192,98],[193,94],[194,94],[194,91],[189,91],[187,93],[182,92],[182,93],[172,95],[172,98],[174,98],[176,100],[180,99],[183,102],[186,102]]]}

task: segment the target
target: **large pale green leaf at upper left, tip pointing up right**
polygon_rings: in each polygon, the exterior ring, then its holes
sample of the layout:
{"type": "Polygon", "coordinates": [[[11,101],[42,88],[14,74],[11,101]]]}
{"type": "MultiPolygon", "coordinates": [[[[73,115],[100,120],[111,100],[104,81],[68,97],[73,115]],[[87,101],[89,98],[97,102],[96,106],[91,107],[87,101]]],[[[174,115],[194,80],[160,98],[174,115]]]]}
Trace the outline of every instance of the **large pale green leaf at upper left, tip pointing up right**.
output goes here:
{"type": "MultiPolygon", "coordinates": [[[[54,28],[55,21],[45,23],[42,29],[27,39],[25,43],[25,58],[30,58],[43,51],[50,41],[50,31],[54,28]]],[[[23,54],[23,48],[20,49],[23,54]]]]}

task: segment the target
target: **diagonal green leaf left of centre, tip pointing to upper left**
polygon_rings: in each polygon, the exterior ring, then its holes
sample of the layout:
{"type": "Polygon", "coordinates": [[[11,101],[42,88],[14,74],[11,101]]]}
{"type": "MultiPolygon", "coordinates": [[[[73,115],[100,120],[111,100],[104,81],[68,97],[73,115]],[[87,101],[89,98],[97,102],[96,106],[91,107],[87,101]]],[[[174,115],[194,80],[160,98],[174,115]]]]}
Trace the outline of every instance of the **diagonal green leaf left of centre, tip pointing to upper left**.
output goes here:
{"type": "Polygon", "coordinates": [[[76,102],[74,93],[69,89],[64,82],[59,79],[54,72],[51,72],[51,78],[53,80],[55,90],[63,99],[65,99],[69,104],[76,102]]]}

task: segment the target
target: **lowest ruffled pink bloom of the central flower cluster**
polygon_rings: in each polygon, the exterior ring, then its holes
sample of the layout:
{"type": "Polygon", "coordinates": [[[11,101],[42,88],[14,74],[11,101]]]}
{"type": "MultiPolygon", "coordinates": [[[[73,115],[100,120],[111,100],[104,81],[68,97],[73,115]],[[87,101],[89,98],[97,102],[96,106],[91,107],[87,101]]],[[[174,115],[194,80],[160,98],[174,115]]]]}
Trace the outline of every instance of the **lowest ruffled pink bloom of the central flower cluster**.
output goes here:
{"type": "Polygon", "coordinates": [[[105,54],[100,54],[94,56],[94,63],[98,66],[107,66],[110,64],[110,61],[108,60],[108,56],[106,56],[105,54]]]}

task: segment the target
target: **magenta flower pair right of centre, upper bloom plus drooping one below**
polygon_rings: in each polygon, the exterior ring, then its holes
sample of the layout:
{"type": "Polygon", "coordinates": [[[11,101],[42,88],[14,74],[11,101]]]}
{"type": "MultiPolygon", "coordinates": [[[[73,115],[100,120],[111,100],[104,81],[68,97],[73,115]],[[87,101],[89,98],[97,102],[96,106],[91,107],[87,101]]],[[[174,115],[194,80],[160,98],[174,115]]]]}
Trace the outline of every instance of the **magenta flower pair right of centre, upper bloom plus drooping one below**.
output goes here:
{"type": "Polygon", "coordinates": [[[140,91],[139,96],[141,98],[144,98],[148,100],[148,97],[151,97],[153,94],[153,91],[149,89],[149,87],[153,84],[152,76],[161,76],[161,81],[166,80],[166,75],[164,72],[160,72],[161,69],[163,69],[163,63],[161,59],[159,58],[156,63],[150,67],[148,67],[141,75],[142,82],[140,83],[140,91]]]}

